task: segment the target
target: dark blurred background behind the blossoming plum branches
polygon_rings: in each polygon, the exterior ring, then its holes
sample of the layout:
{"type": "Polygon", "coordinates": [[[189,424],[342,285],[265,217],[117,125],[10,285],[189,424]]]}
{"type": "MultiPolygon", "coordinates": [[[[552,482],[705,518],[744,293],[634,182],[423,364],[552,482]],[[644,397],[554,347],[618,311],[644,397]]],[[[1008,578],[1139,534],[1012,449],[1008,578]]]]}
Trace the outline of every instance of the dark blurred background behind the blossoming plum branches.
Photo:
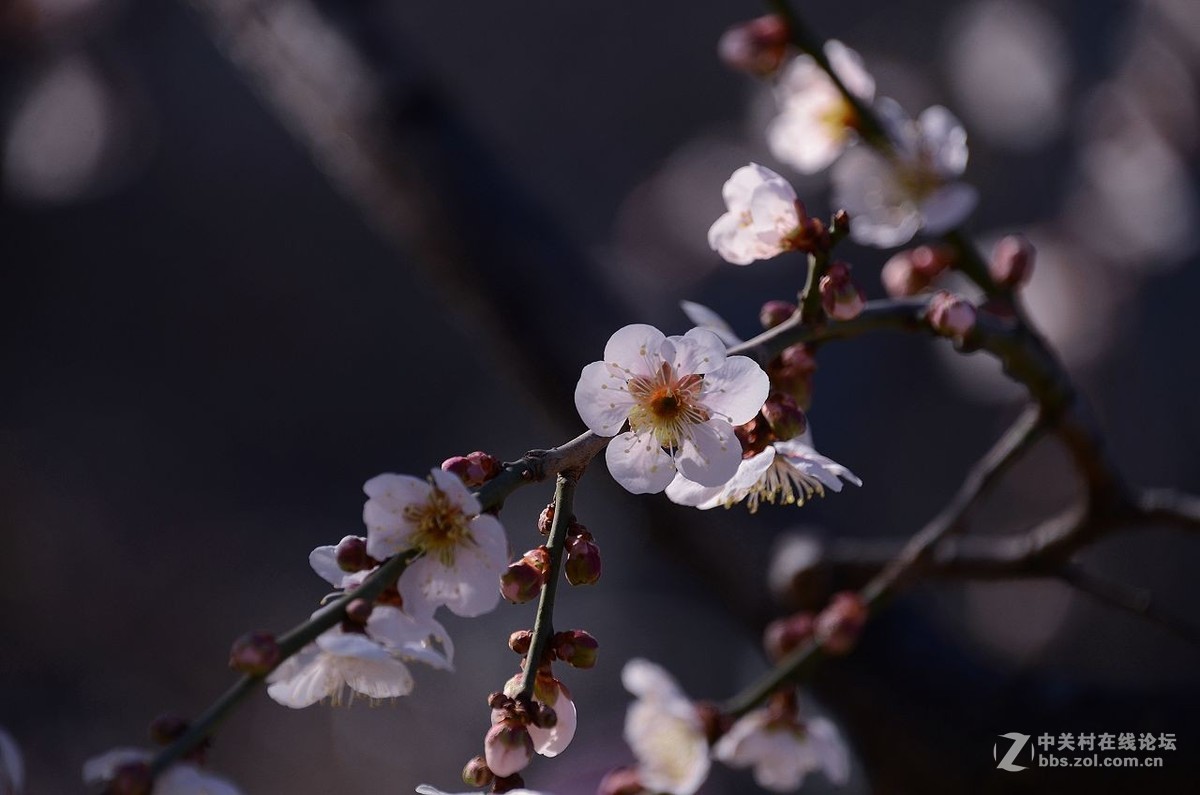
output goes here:
{"type": "MultiPolygon", "coordinates": [[[[1200,6],[1190,0],[805,4],[911,113],[971,135],[984,245],[1039,247],[1033,317],[1126,473],[1200,491],[1188,318],[1200,288],[1200,6]]],[[[629,322],[682,333],[680,298],[745,336],[803,259],[720,262],[706,231],[750,160],[814,213],[824,178],[774,163],[769,86],[715,42],[754,2],[5,0],[0,4],[0,725],[30,793],[148,745],[233,676],[229,642],[326,587],[308,551],[361,532],[360,485],[452,454],[512,459],[582,428],[582,365],[629,322]]],[[[847,246],[872,297],[886,252],[847,246]]],[[[592,793],[631,760],[619,670],[647,657],[700,698],[764,668],[766,573],[793,533],[904,538],[1015,416],[980,355],[881,336],[822,351],[811,422],[864,480],[752,519],[635,498],[602,466],[578,514],[605,575],[556,623],[601,644],[575,745],[536,789],[592,793]]],[[[1052,442],[988,500],[1019,532],[1075,494],[1052,442]]],[[[514,551],[550,488],[510,500],[514,551]]],[[[1141,528],[1099,573],[1200,608],[1200,543],[1141,528]]],[[[455,790],[533,605],[448,617],[455,675],[412,698],[290,712],[265,695],[210,754],[247,793],[455,790]]],[[[812,709],[857,758],[847,791],[1194,791],[1200,651],[1057,582],[919,586],[824,665],[812,709]],[[1006,773],[997,735],[1172,733],[1162,771],[1006,773]]],[[[1003,748],[1001,748],[1003,751],[1003,748]]],[[[812,791],[826,785],[821,776],[812,791]]],[[[720,773],[704,793],[740,793],[720,773]]]]}

